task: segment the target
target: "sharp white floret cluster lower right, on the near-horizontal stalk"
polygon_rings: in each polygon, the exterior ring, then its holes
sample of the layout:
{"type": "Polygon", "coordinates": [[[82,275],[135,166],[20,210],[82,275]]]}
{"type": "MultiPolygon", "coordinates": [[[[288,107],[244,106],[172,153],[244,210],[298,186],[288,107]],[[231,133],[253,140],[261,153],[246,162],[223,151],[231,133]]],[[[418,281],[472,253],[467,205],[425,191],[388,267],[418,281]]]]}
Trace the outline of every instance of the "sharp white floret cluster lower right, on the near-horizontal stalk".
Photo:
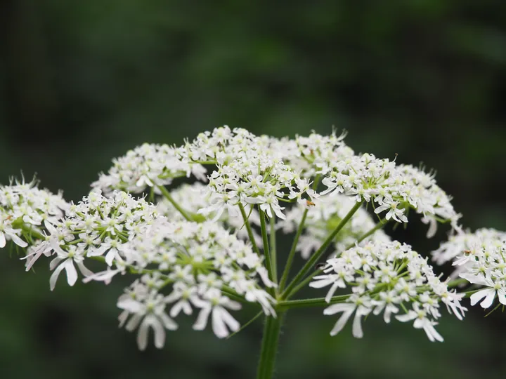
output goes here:
{"type": "Polygon", "coordinates": [[[463,295],[448,291],[427,260],[398,241],[351,248],[338,258],[327,260],[323,272],[310,286],[330,286],[327,302],[332,302],[338,288],[351,287],[353,292],[344,302],[324,310],[323,314],[329,315],[342,312],[330,335],[339,333],[353,313],[353,335],[361,338],[362,317],[383,312],[384,321],[389,323],[391,315],[402,310],[404,314],[396,315],[398,321],[414,320],[413,326],[422,328],[429,340],[443,341],[434,328],[436,319],[441,317],[439,303],[443,302],[458,319],[462,319],[465,311],[460,305],[463,295]]]}

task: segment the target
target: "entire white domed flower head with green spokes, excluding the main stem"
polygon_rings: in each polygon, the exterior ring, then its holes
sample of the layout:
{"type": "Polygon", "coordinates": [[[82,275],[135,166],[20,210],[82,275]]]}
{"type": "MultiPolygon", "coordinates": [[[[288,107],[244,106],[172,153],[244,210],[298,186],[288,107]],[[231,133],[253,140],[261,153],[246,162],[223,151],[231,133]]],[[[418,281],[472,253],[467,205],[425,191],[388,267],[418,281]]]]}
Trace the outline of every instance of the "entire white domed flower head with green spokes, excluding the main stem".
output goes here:
{"type": "Polygon", "coordinates": [[[344,135],[276,139],[223,126],[181,146],[141,145],[113,163],[77,204],[36,181],[1,186],[0,248],[24,249],[27,271],[50,258],[51,291],[63,272],[70,286],[133,275],[117,307],[141,349],[150,330],[162,347],[182,314],[196,315],[193,329],[211,324],[227,337],[248,303],[266,325],[291,308],[319,306],[340,314],[331,335],[354,314],[361,338],[363,317],[382,314],[387,323],[413,321],[431,341],[443,340],[435,328],[442,308],[462,319],[465,297],[506,305],[506,233],[463,231],[432,173],[356,154],[344,135]],[[171,187],[176,178],[189,182],[171,187]],[[453,262],[448,279],[427,254],[382,230],[406,224],[410,212],[429,225],[427,237],[450,225],[432,253],[437,265],[453,262]],[[276,242],[280,233],[293,235],[290,246],[276,242]],[[305,264],[293,274],[297,255],[305,264]],[[297,300],[307,286],[328,291],[297,300]]]}

